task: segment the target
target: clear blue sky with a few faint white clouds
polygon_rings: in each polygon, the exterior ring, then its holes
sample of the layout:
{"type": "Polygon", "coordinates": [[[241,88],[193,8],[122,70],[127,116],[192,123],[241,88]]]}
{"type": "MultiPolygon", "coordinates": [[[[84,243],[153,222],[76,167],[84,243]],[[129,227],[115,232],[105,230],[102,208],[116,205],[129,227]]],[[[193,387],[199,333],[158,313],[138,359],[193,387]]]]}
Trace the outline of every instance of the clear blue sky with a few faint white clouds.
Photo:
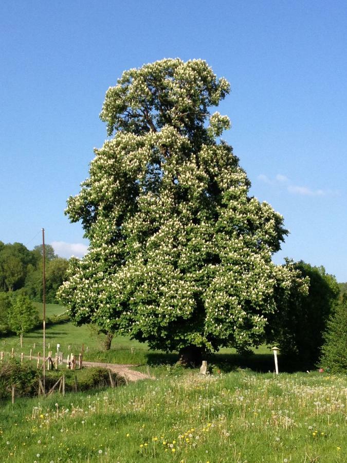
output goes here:
{"type": "Polygon", "coordinates": [[[0,240],[68,257],[87,242],[64,216],[106,138],[99,113],[123,70],[202,58],[232,92],[224,135],[290,235],[284,256],[347,281],[347,3],[3,0],[0,240]]]}

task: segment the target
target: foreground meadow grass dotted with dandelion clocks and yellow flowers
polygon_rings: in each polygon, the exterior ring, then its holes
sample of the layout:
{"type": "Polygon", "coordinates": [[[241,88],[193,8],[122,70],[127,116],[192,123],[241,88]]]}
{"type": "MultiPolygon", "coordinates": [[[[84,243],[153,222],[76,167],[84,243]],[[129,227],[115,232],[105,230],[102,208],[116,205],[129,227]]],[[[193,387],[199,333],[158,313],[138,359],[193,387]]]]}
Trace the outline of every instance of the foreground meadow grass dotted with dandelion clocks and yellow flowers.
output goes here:
{"type": "Polygon", "coordinates": [[[177,372],[6,404],[2,461],[346,461],[346,377],[177,372]]]}

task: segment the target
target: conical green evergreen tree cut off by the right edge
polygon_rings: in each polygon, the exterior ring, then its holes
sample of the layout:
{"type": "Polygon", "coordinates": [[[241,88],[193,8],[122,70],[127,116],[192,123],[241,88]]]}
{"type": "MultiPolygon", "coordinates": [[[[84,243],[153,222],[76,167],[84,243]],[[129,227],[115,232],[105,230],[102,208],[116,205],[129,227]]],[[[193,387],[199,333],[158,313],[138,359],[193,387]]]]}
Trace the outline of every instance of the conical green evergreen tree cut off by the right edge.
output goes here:
{"type": "Polygon", "coordinates": [[[327,323],[320,366],[331,372],[347,372],[347,295],[327,323]]]}

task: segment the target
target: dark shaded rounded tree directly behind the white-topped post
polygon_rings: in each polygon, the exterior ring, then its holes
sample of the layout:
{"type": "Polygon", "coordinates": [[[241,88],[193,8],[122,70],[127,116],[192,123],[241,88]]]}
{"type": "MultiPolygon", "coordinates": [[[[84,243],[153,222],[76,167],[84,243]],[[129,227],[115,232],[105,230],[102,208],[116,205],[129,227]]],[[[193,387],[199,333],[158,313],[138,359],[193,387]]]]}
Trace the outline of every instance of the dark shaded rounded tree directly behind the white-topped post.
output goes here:
{"type": "Polygon", "coordinates": [[[278,344],[286,368],[307,370],[314,368],[323,344],[327,320],[334,311],[339,295],[337,281],[325,272],[303,261],[294,268],[309,279],[307,294],[295,290],[280,311],[269,319],[268,341],[278,344]]]}

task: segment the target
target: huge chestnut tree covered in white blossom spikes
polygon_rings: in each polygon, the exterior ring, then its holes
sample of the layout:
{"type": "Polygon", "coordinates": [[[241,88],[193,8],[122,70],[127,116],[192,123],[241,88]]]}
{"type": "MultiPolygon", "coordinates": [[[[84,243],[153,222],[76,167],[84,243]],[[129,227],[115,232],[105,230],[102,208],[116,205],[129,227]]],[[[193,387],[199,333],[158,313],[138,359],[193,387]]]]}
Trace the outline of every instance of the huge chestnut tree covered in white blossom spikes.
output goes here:
{"type": "Polygon", "coordinates": [[[60,300],[75,323],[179,350],[183,359],[264,340],[267,316],[297,273],[271,255],[287,231],[220,139],[229,93],[205,61],[130,69],[106,93],[109,139],[68,199],[90,241],[60,300]]]}

